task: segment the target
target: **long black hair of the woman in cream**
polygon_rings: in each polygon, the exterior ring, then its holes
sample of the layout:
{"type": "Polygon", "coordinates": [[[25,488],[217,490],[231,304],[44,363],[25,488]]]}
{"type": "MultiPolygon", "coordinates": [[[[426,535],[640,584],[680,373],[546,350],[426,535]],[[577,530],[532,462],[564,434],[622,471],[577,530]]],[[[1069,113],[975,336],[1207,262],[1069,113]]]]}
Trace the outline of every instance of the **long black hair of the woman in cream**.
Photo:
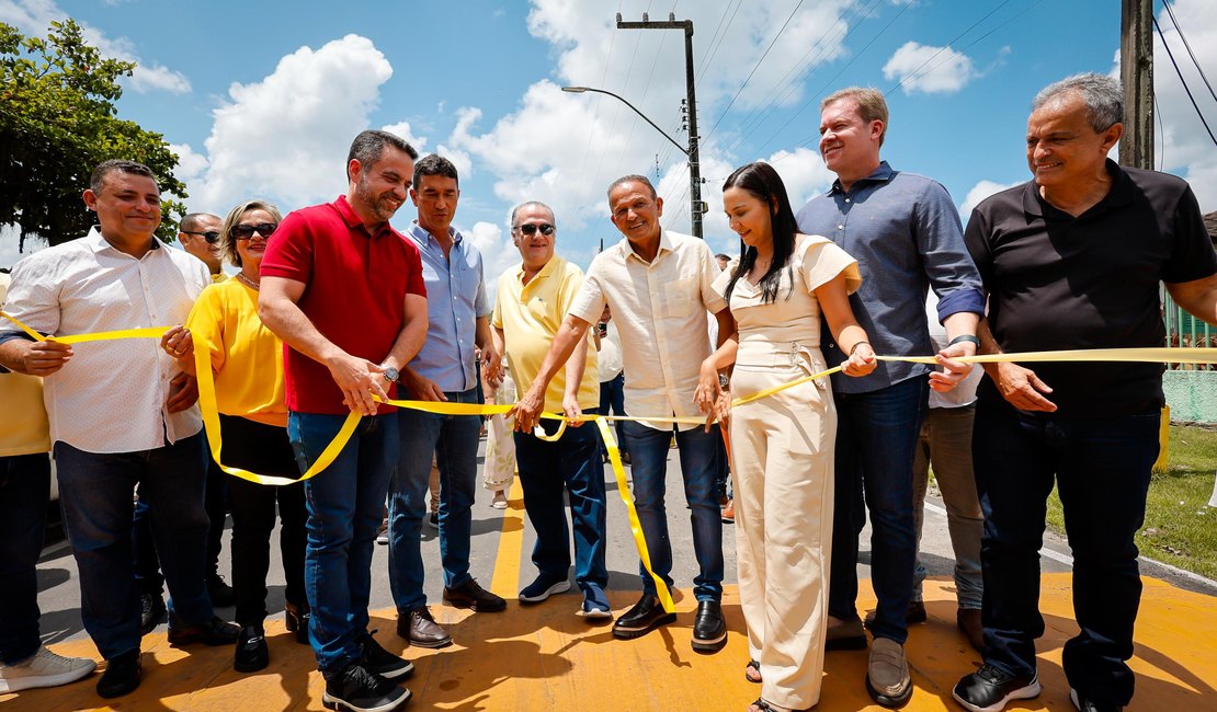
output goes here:
{"type": "MultiPolygon", "coordinates": [[[[769,271],[761,277],[761,301],[776,301],[781,272],[790,264],[790,255],[795,252],[795,236],[798,233],[798,224],[795,220],[795,210],[790,207],[790,197],[786,196],[786,186],[772,165],[758,160],[735,169],[735,173],[728,176],[727,182],[723,183],[723,192],[727,192],[727,188],[745,190],[769,207],[769,222],[773,227],[773,260],[769,262],[769,271]]],[[[739,281],[740,276],[747,275],[756,261],[756,248],[744,245],[740,253],[740,266],[727,284],[724,298],[728,303],[731,300],[735,282],[739,281]]]]}

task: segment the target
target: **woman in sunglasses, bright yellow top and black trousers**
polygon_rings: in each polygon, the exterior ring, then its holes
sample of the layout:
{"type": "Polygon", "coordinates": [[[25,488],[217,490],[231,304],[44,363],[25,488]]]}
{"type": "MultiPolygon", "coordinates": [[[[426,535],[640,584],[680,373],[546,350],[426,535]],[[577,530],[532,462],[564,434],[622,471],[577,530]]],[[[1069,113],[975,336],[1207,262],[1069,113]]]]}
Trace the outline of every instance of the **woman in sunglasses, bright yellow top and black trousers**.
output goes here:
{"type": "MultiPolygon", "coordinates": [[[[247,200],[229,213],[221,231],[223,253],[241,271],[236,278],[204,289],[186,324],[195,349],[211,352],[223,440],[220,460],[259,475],[296,479],[299,469],[287,440],[284,402],[284,347],[258,318],[258,267],[280,220],[279,209],[263,200],[247,200]]],[[[308,644],[303,485],[276,487],[232,478],[232,593],[241,626],[232,667],[239,672],[270,663],[263,623],[276,502],[282,521],[279,544],[287,580],[287,629],[296,632],[297,642],[308,644]]]]}

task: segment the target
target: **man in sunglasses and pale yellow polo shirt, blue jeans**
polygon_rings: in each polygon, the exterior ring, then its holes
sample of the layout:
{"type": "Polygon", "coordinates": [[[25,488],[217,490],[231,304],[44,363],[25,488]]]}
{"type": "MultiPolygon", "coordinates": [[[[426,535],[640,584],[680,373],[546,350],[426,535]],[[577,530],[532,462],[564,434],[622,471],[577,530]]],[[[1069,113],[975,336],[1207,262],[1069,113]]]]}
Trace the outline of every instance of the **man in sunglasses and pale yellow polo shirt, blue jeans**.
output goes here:
{"type": "MultiPolygon", "coordinates": [[[[520,249],[521,264],[499,278],[492,324],[495,346],[500,354],[506,354],[516,383],[532,383],[537,377],[583,284],[583,271],[554,254],[557,238],[554,224],[554,211],[544,203],[523,203],[511,211],[511,239],[520,249]]],[[[545,391],[546,412],[562,412],[572,418],[599,412],[595,358],[595,350],[584,339],[566,368],[550,382],[545,391]]],[[[559,423],[543,420],[542,426],[553,435],[559,423]]],[[[574,582],[583,592],[583,606],[578,612],[588,618],[612,615],[604,592],[608,582],[605,480],[596,437],[595,429],[577,423],[572,423],[557,442],[545,442],[532,433],[515,434],[525,510],[537,530],[532,560],[538,576],[520,592],[522,604],[540,603],[571,588],[567,578],[571,549],[562,514],[565,488],[574,530],[574,582]]]]}

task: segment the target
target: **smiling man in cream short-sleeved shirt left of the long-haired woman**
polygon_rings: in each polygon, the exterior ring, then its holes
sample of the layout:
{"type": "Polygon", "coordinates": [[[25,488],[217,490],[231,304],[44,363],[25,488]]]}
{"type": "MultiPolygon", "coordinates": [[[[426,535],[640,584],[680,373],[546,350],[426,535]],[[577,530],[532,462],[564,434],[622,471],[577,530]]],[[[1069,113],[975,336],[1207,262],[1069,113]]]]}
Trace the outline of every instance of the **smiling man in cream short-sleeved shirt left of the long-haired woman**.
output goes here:
{"type": "MultiPolygon", "coordinates": [[[[540,414],[550,379],[566,363],[588,327],[605,305],[612,310],[621,333],[626,373],[626,411],[634,416],[696,418],[694,405],[697,369],[710,356],[706,312],[718,317],[719,334],[733,329],[723,299],[711,283],[719,269],[706,243],[660,226],[663,199],[655,186],[640,175],[628,175],[608,186],[611,220],[626,237],[596,255],[574,299],[571,312],[559,328],[540,371],[516,407],[516,428],[531,433],[540,414]],[[645,286],[645,289],[643,288],[645,286]]],[[[567,411],[568,417],[579,413],[567,411]]],[[[664,478],[668,423],[628,422],[623,433],[629,450],[634,481],[634,503],[643,525],[655,573],[672,587],[672,546],[664,509],[664,478]]],[[[694,578],[697,616],[694,621],[695,650],[714,651],[727,642],[727,627],[719,601],[723,594],[723,522],[719,520],[716,486],[718,425],[708,431],[700,425],[679,425],[680,471],[692,520],[694,553],[699,573],[694,578]]],[[[643,597],[613,625],[613,635],[638,638],[675,621],[656,597],[656,584],[645,570],[643,597]]]]}

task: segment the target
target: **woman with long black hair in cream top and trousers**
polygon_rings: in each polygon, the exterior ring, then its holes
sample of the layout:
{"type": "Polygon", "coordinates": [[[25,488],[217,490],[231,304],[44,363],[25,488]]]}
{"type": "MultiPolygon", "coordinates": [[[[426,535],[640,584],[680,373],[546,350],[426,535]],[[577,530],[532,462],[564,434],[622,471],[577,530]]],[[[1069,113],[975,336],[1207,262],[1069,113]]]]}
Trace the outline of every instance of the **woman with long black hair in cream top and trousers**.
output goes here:
{"type": "MultiPolygon", "coordinates": [[[[862,283],[854,259],[823,237],[798,234],[768,164],[731,174],[723,204],[747,247],[714,283],[736,329],[702,363],[702,408],[717,401],[727,416],[718,372],[733,363],[734,397],[824,371],[820,313],[849,354],[845,373],[870,373],[875,355],[848,301],[862,283]]],[[[746,673],[763,680],[750,712],[802,710],[820,696],[836,437],[829,389],[820,378],[730,411],[740,604],[752,655],[746,673]]]]}

